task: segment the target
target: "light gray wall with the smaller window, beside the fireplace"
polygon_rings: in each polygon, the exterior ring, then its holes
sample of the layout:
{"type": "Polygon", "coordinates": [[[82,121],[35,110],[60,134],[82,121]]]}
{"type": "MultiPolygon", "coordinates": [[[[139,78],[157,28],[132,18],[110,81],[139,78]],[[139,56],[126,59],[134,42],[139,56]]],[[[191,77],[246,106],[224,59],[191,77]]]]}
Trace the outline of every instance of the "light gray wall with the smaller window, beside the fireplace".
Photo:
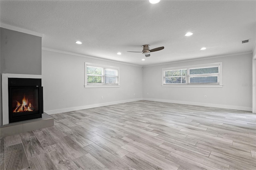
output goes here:
{"type": "Polygon", "coordinates": [[[142,69],[139,66],[43,49],[42,76],[44,111],[48,114],[142,99],[142,69]],[[84,62],[120,67],[120,87],[84,88],[84,62]]]}

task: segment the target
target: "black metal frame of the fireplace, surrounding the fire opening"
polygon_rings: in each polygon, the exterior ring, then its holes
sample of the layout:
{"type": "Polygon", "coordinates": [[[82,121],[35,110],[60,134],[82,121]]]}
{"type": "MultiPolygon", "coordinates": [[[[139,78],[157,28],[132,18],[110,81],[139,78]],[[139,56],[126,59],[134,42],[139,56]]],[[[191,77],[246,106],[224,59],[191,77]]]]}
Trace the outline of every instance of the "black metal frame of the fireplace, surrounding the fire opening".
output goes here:
{"type": "Polygon", "coordinates": [[[30,78],[8,78],[8,99],[9,99],[9,123],[42,118],[43,111],[43,87],[42,79],[30,78]],[[20,116],[13,115],[12,91],[17,88],[31,88],[38,91],[38,111],[22,112],[20,116]]]}

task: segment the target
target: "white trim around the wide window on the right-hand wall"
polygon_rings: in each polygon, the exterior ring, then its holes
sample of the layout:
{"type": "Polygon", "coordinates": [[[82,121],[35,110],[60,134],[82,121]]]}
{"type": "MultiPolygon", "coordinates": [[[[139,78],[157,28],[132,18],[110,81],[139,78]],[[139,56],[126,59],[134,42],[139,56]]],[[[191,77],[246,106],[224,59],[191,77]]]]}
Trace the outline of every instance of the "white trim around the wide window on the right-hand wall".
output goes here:
{"type": "Polygon", "coordinates": [[[198,64],[198,65],[185,65],[180,67],[169,67],[169,68],[162,68],[162,87],[223,87],[222,84],[222,62],[218,63],[207,63],[207,64],[198,64]],[[182,83],[182,84],[164,84],[163,77],[164,77],[164,71],[166,70],[177,70],[177,69],[191,69],[191,68],[197,68],[197,67],[214,67],[219,66],[220,67],[220,74],[219,74],[219,84],[188,84],[188,83],[182,83]]]}

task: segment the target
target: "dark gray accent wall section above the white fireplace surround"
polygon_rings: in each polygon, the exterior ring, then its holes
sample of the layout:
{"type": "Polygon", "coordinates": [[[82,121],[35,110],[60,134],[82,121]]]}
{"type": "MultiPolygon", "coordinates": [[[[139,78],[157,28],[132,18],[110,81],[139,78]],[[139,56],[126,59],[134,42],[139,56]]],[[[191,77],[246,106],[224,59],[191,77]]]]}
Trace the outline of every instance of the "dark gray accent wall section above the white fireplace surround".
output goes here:
{"type": "Polygon", "coordinates": [[[42,75],[42,38],[1,28],[1,73],[42,75]]]}

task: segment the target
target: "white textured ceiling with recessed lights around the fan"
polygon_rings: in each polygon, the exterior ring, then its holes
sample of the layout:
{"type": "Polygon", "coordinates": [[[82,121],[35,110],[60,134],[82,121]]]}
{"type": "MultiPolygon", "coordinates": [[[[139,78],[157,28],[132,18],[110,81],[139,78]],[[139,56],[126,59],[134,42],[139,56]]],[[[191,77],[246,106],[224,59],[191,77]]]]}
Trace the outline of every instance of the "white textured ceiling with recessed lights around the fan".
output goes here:
{"type": "Polygon", "coordinates": [[[3,24],[42,33],[42,47],[143,66],[248,52],[256,42],[255,0],[1,0],[0,14],[3,24]],[[127,52],[144,44],[164,49],[127,52]]]}

